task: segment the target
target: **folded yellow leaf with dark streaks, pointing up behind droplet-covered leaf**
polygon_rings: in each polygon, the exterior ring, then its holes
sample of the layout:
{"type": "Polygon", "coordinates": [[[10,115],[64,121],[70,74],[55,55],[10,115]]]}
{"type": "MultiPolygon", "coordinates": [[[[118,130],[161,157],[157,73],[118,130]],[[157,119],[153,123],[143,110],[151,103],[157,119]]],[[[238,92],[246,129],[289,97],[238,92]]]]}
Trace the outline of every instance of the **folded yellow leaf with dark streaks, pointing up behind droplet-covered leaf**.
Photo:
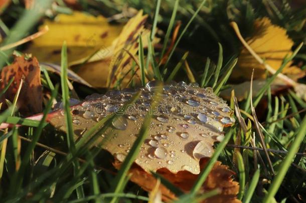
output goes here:
{"type": "MultiPolygon", "coordinates": [[[[139,11],[124,26],[119,37],[113,42],[113,46],[108,48],[110,53],[108,57],[100,57],[105,50],[97,52],[89,60],[90,63],[83,65],[77,73],[95,87],[113,87],[114,82],[124,78],[131,69],[133,60],[124,49],[135,56],[138,51],[137,39],[140,33],[146,42],[146,36],[149,35],[149,31],[143,27],[146,18],[147,16],[142,15],[142,11],[139,11]]],[[[139,71],[137,74],[140,75],[139,71]]],[[[121,82],[122,87],[126,85],[131,76],[132,73],[125,77],[121,82]]]]}

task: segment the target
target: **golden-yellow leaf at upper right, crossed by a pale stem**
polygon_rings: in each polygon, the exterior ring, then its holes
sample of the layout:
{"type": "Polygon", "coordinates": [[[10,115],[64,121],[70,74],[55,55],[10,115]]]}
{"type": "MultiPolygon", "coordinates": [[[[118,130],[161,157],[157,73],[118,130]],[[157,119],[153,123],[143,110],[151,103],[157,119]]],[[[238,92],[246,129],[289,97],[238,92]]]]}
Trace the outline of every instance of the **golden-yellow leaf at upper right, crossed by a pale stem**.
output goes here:
{"type": "MultiPolygon", "coordinates": [[[[260,58],[265,60],[266,64],[277,70],[285,56],[292,54],[293,41],[288,38],[285,29],[271,24],[271,21],[266,17],[257,19],[254,22],[254,30],[256,33],[254,37],[247,40],[247,44],[260,58]]],[[[254,79],[265,78],[266,69],[264,65],[259,64],[249,51],[243,48],[231,78],[250,80],[253,69],[255,69],[254,79]]],[[[300,68],[291,66],[291,63],[288,63],[282,73],[296,75],[302,73],[302,71],[300,68]]]]}

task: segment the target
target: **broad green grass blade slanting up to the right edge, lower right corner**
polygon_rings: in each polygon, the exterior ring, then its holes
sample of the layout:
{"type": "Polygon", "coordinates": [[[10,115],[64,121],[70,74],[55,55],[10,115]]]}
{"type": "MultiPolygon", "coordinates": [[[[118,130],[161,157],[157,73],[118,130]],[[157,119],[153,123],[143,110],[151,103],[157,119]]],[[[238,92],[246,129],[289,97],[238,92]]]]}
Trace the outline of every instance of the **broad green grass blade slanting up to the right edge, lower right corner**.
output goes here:
{"type": "Polygon", "coordinates": [[[304,136],[306,134],[306,116],[303,118],[300,127],[298,129],[298,132],[295,136],[294,141],[291,143],[290,148],[288,150],[287,156],[285,159],[281,162],[281,165],[279,167],[279,170],[277,171],[276,176],[273,178],[272,183],[269,187],[268,193],[266,194],[263,202],[268,203],[271,202],[271,199],[276,194],[278,188],[280,187],[280,184],[285,177],[285,174],[287,170],[289,169],[289,166],[291,165],[293,158],[298,151],[298,148],[304,139],[304,136]]]}

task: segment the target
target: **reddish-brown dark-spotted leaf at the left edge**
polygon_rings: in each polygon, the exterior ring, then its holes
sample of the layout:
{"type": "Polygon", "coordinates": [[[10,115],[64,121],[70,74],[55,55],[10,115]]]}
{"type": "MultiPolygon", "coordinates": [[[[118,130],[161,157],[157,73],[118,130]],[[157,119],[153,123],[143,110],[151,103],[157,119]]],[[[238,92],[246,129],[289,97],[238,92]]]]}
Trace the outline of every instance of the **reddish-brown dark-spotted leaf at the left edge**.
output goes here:
{"type": "Polygon", "coordinates": [[[42,84],[37,59],[35,57],[29,59],[25,59],[24,56],[16,57],[13,64],[4,67],[1,72],[1,89],[4,89],[13,77],[15,79],[2,100],[13,101],[21,79],[23,79],[24,83],[17,103],[20,112],[24,115],[42,112],[42,84]]]}

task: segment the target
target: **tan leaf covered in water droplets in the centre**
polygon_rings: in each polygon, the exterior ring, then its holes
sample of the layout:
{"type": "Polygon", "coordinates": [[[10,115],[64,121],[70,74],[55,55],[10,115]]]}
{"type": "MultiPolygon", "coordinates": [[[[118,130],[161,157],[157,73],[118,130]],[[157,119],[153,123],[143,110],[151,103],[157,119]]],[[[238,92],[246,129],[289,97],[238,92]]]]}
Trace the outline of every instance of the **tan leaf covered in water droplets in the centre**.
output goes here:
{"type": "MultiPolygon", "coordinates": [[[[210,157],[213,143],[223,138],[223,127],[234,122],[232,110],[211,88],[197,84],[165,84],[158,110],[152,113],[149,136],[142,144],[135,162],[145,171],[167,168],[172,173],[187,170],[199,174],[199,159],[210,157]]],[[[124,115],[113,120],[112,127],[100,136],[102,148],[123,161],[138,136],[143,117],[147,113],[156,82],[145,88],[111,91],[105,95],[91,95],[80,105],[71,107],[74,131],[80,136],[106,115],[116,112],[132,95],[141,91],[139,99],[128,106],[124,115]]],[[[55,111],[49,122],[66,130],[63,110],[55,111]]],[[[98,145],[99,141],[97,141],[98,145]]]]}

